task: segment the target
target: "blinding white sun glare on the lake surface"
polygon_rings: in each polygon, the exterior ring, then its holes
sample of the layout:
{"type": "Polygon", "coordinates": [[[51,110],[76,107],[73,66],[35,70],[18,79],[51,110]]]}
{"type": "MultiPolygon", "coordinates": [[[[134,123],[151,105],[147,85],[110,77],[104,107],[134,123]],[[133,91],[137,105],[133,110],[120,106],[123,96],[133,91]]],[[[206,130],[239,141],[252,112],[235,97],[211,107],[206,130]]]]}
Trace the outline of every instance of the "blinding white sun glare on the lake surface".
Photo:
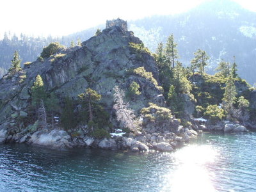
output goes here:
{"type": "Polygon", "coordinates": [[[165,175],[161,191],[216,191],[211,182],[214,173],[207,170],[217,152],[209,145],[189,145],[173,154],[175,168],[165,175]]]}

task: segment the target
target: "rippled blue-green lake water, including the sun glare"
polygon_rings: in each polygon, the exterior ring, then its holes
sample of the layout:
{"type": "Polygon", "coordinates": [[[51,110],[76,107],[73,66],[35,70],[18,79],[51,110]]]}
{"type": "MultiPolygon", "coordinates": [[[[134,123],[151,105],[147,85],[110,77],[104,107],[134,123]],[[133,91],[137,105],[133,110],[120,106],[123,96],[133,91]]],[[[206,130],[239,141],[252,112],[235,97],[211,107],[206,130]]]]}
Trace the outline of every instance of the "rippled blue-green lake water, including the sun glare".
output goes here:
{"type": "Polygon", "coordinates": [[[203,133],[173,153],[0,145],[0,191],[256,191],[256,133],[203,133]]]}

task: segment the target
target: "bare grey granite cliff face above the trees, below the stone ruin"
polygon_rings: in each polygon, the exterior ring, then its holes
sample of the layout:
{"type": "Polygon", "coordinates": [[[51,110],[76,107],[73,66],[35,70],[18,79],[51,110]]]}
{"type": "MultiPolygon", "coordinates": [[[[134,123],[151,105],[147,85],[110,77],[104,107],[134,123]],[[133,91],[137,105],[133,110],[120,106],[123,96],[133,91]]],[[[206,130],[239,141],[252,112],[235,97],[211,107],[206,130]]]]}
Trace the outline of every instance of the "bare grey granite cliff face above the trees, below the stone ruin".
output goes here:
{"type": "Polygon", "coordinates": [[[59,97],[75,98],[90,86],[102,95],[102,102],[107,103],[109,108],[113,103],[113,87],[119,84],[127,89],[132,81],[136,81],[141,87],[142,94],[138,101],[141,107],[152,100],[163,106],[163,95],[153,83],[129,74],[131,68],[145,67],[158,79],[152,56],[142,54],[144,61],[136,60],[135,54],[131,54],[129,42],[141,43],[131,32],[113,26],[83,42],[81,47],[61,50],[58,54],[65,55],[60,58],[52,56],[43,63],[35,61],[14,77],[4,77],[0,80],[1,123],[12,113],[26,111],[30,88],[38,74],[42,76],[48,92],[54,92],[59,97]],[[20,76],[26,76],[22,83],[20,76]]]}

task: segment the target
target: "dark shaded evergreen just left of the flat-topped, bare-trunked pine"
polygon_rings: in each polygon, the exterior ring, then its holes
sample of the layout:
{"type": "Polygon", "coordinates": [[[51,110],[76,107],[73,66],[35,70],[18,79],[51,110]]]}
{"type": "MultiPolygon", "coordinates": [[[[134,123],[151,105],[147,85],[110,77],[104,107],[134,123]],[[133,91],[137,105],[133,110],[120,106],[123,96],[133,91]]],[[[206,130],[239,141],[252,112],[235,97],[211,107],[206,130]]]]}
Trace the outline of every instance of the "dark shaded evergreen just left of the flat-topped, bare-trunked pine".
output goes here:
{"type": "Polygon", "coordinates": [[[60,123],[64,129],[73,129],[78,124],[77,114],[74,113],[74,102],[69,97],[65,98],[65,107],[60,116],[60,123]]]}

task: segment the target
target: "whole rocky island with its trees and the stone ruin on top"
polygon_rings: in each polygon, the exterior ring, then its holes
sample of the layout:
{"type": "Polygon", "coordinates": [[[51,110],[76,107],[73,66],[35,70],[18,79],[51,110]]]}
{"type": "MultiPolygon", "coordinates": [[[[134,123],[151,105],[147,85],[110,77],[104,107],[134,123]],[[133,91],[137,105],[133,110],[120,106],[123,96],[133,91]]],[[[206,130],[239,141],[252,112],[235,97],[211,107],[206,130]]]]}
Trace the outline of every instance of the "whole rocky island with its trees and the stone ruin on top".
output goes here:
{"type": "Polygon", "coordinates": [[[116,19],[81,45],[50,44],[23,68],[15,52],[0,80],[0,143],[171,152],[201,131],[255,129],[256,91],[236,63],[210,76],[204,51],[182,67],[176,45],[170,36],[152,54],[116,19]]]}

